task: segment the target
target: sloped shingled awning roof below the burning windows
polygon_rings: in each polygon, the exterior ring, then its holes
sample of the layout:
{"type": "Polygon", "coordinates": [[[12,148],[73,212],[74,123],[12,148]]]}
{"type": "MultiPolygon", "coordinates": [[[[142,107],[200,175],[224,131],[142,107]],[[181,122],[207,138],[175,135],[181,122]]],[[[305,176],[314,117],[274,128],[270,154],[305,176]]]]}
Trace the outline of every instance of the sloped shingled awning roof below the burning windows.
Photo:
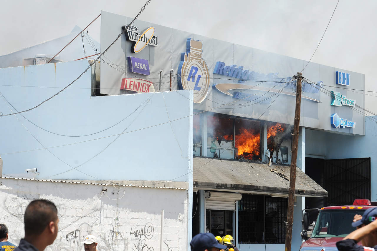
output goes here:
{"type": "MultiPolygon", "coordinates": [[[[203,157],[194,157],[193,162],[193,179],[197,188],[288,196],[289,166],[269,167],[262,163],[203,157]]],[[[295,195],[327,197],[327,191],[297,168],[295,195]]]]}

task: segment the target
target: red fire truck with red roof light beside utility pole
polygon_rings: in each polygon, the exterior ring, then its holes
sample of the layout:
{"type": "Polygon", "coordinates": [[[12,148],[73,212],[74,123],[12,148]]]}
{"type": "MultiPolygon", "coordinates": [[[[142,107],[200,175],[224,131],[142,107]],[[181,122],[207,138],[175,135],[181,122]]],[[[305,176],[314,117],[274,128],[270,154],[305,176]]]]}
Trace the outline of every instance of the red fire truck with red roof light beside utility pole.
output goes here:
{"type": "Polygon", "coordinates": [[[356,230],[351,226],[355,214],[363,215],[376,205],[377,202],[371,203],[369,199],[356,199],[352,205],[302,210],[300,251],[338,251],[336,243],[356,230]],[[310,223],[311,219],[316,221],[310,223]]]}

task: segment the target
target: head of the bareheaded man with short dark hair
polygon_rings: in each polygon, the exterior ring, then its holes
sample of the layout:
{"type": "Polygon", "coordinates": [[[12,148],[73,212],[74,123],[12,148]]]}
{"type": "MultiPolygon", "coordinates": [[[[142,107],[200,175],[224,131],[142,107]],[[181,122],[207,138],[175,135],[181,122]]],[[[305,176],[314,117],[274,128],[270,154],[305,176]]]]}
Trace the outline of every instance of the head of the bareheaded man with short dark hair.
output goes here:
{"type": "Polygon", "coordinates": [[[36,199],[25,210],[25,238],[42,236],[50,245],[58,234],[58,210],[46,199],[36,199]]]}

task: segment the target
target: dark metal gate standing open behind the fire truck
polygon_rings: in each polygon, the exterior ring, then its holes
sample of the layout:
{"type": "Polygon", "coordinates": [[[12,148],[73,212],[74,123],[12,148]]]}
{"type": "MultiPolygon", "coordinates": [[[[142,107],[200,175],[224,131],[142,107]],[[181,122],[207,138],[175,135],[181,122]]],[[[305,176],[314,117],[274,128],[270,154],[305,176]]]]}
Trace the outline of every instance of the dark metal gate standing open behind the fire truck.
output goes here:
{"type": "Polygon", "coordinates": [[[352,205],[355,199],[371,199],[371,158],[325,160],[325,207],[352,205]]]}

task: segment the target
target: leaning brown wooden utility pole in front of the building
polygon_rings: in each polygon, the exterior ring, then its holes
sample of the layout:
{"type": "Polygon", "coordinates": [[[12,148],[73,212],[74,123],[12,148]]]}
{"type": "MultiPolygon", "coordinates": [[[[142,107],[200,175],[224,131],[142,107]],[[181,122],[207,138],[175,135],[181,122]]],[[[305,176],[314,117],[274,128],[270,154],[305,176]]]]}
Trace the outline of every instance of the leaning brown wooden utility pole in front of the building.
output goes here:
{"type": "Polygon", "coordinates": [[[294,189],[296,187],[297,145],[299,143],[300,112],[301,112],[301,79],[302,79],[302,73],[297,72],[296,111],[294,112],[292,158],[291,158],[291,173],[290,173],[289,191],[288,191],[288,211],[287,211],[287,222],[286,222],[287,234],[285,236],[285,251],[291,251],[291,244],[292,244],[293,202],[294,202],[294,189]]]}

